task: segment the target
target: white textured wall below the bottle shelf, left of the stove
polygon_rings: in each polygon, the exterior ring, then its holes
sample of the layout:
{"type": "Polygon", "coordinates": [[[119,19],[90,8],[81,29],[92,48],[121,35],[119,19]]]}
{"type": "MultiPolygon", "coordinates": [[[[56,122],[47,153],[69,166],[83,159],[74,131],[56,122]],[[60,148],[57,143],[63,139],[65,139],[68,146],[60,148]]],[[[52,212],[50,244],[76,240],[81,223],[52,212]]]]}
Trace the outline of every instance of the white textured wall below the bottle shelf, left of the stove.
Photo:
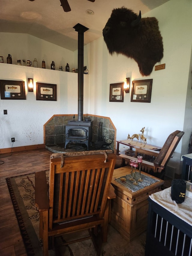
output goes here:
{"type": "MultiPolygon", "coordinates": [[[[26,100],[0,100],[0,148],[42,144],[43,125],[54,114],[78,113],[77,74],[42,68],[24,67],[0,63],[1,80],[25,81],[26,100]],[[34,92],[28,92],[27,79],[34,83],[57,85],[57,101],[36,101],[34,92]],[[7,115],[3,110],[7,110],[7,115]]],[[[84,75],[84,113],[88,113],[88,75],[84,75]]]]}

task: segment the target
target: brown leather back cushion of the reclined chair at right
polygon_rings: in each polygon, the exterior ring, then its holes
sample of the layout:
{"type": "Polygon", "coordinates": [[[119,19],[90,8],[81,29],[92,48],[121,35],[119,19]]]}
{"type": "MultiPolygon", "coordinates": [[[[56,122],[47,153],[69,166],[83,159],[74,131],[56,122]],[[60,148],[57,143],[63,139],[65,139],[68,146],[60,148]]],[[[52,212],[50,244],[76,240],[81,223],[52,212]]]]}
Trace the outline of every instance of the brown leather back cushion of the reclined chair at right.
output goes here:
{"type": "Polygon", "coordinates": [[[154,161],[154,164],[161,165],[161,162],[165,158],[165,155],[167,154],[168,149],[170,148],[171,143],[173,142],[174,138],[176,137],[177,134],[179,134],[180,131],[174,131],[172,132],[169,137],[167,138],[166,142],[164,143],[161,151],[159,152],[159,155],[154,161]]]}

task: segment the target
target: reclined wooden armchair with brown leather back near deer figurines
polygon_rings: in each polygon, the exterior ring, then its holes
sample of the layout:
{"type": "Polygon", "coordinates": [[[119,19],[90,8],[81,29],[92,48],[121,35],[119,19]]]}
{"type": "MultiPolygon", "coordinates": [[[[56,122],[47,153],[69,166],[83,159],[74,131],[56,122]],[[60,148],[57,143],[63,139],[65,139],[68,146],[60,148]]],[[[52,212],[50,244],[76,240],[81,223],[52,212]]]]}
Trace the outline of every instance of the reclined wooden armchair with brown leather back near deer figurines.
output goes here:
{"type": "MultiPolygon", "coordinates": [[[[141,147],[135,147],[135,156],[119,155],[122,158],[122,164],[125,164],[125,161],[128,163],[130,159],[135,159],[137,155],[149,155],[150,158],[154,158],[153,162],[143,160],[141,163],[141,170],[144,172],[151,173],[153,176],[164,178],[164,169],[173,155],[173,152],[176,149],[179,141],[181,140],[184,132],[183,131],[174,131],[169,135],[166,142],[164,143],[160,151],[145,149],[141,147]]],[[[143,158],[144,159],[144,158],[143,158]]]]}

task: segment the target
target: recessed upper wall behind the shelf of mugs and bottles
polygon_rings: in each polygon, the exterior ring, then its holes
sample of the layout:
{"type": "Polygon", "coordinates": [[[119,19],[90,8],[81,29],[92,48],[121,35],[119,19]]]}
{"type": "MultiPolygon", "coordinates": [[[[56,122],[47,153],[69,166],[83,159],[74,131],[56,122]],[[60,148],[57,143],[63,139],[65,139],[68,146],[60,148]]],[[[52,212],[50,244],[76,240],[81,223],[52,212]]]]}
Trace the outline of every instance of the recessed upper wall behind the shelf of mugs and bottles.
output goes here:
{"type": "Polygon", "coordinates": [[[74,68],[73,52],[58,45],[49,43],[37,37],[19,33],[0,33],[0,56],[3,56],[4,63],[7,63],[7,56],[11,54],[13,64],[17,64],[17,59],[26,59],[33,62],[34,58],[38,60],[38,67],[42,67],[42,60],[45,60],[46,69],[51,69],[52,61],[55,62],[55,70],[59,66],[65,66],[68,63],[70,71],[74,68]]]}

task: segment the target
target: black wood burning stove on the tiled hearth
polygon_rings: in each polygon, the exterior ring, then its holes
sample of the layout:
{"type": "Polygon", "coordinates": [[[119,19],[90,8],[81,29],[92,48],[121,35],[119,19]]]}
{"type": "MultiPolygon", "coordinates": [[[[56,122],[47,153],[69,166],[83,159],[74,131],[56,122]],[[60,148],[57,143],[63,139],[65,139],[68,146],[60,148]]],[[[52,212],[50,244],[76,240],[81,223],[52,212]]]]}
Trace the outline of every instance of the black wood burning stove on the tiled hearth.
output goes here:
{"type": "Polygon", "coordinates": [[[87,146],[92,140],[93,121],[69,120],[65,125],[65,148],[69,142],[83,143],[87,146]]]}

